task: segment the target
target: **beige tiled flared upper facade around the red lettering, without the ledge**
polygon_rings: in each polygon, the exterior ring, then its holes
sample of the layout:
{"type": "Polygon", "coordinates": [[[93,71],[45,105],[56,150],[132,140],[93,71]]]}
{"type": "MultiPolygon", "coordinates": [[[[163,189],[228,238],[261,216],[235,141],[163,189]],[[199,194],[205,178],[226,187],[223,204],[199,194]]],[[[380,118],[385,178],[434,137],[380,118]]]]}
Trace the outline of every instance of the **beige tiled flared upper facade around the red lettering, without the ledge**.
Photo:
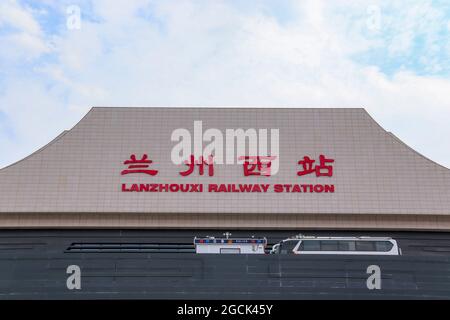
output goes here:
{"type": "Polygon", "coordinates": [[[92,108],[71,130],[0,170],[3,213],[450,214],[450,170],[381,128],[364,109],[92,108]],[[279,129],[279,172],[244,177],[239,165],[180,177],[177,128],[279,129]],[[127,175],[147,153],[157,176],[127,175]],[[299,177],[303,156],[335,160],[333,177],[299,177]],[[334,193],[133,193],[133,183],[332,184],[334,193]]]}

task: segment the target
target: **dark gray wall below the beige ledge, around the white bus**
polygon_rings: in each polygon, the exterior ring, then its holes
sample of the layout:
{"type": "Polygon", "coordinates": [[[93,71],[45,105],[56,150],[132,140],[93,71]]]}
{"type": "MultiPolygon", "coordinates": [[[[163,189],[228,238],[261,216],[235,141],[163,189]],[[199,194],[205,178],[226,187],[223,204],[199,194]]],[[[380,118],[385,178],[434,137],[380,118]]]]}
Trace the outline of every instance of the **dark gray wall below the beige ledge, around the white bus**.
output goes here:
{"type": "MultiPolygon", "coordinates": [[[[265,235],[270,243],[292,235],[283,231],[232,233],[265,235]]],[[[364,233],[393,236],[405,253],[401,257],[67,251],[72,243],[190,244],[194,235],[221,232],[3,230],[0,298],[450,298],[448,233],[364,233]],[[72,264],[81,267],[80,291],[66,288],[66,268],[72,264]],[[381,268],[382,290],[366,287],[366,269],[373,264],[381,268]]]]}

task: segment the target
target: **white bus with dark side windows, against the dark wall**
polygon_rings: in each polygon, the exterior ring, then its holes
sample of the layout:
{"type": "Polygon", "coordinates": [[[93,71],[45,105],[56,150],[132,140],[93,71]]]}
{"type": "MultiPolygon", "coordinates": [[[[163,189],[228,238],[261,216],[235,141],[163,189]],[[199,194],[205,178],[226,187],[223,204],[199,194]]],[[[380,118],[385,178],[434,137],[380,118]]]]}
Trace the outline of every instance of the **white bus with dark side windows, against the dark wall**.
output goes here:
{"type": "Polygon", "coordinates": [[[275,244],[271,254],[401,255],[397,241],[388,237],[296,236],[275,244]]]}

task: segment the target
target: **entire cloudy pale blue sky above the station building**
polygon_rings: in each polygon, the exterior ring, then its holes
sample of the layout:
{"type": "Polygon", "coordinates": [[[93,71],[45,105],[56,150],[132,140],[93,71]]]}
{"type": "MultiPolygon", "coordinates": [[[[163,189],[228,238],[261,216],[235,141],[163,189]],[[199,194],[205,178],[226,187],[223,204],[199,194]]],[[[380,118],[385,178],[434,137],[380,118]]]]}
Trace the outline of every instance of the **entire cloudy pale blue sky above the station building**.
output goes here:
{"type": "Polygon", "coordinates": [[[450,168],[450,1],[0,0],[0,167],[92,106],[364,107],[450,168]]]}

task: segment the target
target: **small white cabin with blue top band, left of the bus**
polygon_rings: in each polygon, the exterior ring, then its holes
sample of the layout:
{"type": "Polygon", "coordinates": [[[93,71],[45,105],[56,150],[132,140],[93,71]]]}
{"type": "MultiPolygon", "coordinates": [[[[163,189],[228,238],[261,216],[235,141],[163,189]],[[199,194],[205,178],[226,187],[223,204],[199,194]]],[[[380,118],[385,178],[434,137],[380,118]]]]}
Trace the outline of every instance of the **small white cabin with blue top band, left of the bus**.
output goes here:
{"type": "Polygon", "coordinates": [[[194,238],[195,252],[204,254],[265,254],[266,238],[194,238]]]}

